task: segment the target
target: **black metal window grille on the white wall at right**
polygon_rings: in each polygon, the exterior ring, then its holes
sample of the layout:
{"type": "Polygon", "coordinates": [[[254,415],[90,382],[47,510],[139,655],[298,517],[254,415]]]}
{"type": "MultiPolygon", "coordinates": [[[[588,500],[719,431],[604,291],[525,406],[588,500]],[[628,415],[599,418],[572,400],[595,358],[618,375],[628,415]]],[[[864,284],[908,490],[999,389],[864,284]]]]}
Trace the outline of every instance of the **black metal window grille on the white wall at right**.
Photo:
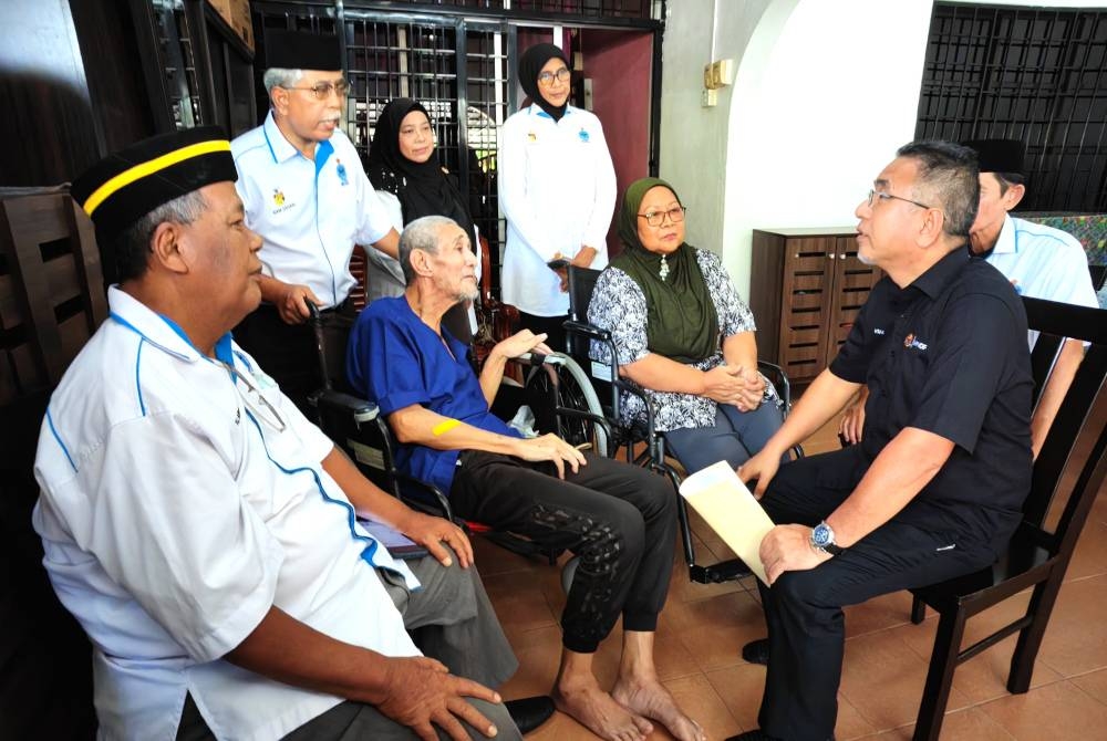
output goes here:
{"type": "Polygon", "coordinates": [[[1107,211],[1107,12],[938,3],[917,138],[1026,144],[1022,209],[1107,211]]]}

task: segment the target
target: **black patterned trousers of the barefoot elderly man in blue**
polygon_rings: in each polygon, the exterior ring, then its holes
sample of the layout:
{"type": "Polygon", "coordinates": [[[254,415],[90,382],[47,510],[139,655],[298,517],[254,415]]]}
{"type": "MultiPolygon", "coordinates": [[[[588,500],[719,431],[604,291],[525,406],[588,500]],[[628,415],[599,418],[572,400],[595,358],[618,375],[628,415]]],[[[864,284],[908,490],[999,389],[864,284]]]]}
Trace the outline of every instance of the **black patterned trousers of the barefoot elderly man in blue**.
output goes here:
{"type": "Polygon", "coordinates": [[[565,480],[552,463],[466,451],[449,501],[466,520],[580,556],[561,613],[566,648],[590,654],[622,614],[625,630],[655,630],[673,570],[676,493],[635,466],[588,456],[565,480]]]}

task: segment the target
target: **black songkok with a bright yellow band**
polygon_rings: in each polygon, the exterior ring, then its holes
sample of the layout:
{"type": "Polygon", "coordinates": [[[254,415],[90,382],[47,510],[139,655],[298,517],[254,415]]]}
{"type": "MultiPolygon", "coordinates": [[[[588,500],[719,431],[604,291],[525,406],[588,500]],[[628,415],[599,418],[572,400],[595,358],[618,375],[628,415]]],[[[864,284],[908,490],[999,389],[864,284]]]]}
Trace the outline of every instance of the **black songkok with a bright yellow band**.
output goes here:
{"type": "Polygon", "coordinates": [[[237,179],[223,129],[201,126],[143,139],[100,160],[73,181],[70,195],[111,240],[163,203],[237,179]]]}

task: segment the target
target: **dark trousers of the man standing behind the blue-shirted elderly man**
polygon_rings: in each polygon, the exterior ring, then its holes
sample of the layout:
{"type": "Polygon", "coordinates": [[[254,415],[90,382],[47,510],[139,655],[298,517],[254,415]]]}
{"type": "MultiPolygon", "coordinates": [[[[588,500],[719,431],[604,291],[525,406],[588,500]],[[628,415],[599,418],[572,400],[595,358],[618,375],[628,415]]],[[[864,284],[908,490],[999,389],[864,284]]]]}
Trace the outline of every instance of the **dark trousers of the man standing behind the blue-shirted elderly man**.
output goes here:
{"type": "MultiPolygon", "coordinates": [[[[346,307],[350,303],[343,302],[335,311],[352,312],[352,306],[346,307]]],[[[311,322],[286,324],[276,306],[261,304],[235,327],[234,335],[235,342],[273,377],[300,411],[308,419],[315,419],[314,410],[308,405],[308,396],[323,387],[323,376],[319,369],[319,349],[311,322]]],[[[345,357],[345,348],[340,355],[345,357]]],[[[341,373],[345,377],[345,367],[331,368],[331,373],[341,373]]]]}

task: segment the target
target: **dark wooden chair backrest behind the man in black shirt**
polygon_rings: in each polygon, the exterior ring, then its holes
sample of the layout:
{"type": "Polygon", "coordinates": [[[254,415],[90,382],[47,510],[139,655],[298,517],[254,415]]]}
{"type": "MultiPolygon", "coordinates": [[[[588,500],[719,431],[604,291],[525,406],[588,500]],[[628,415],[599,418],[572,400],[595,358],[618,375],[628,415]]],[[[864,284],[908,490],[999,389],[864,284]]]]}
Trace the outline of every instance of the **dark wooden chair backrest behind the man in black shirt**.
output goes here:
{"type": "Polygon", "coordinates": [[[1028,298],[1023,303],[1030,328],[1041,333],[1031,354],[1035,404],[1065,340],[1088,343],[1034,463],[1023,505],[1023,528],[1035,531],[1052,553],[1070,553],[1107,473],[1107,310],[1028,298]],[[1064,502],[1059,516],[1055,502],[1064,502]]]}

